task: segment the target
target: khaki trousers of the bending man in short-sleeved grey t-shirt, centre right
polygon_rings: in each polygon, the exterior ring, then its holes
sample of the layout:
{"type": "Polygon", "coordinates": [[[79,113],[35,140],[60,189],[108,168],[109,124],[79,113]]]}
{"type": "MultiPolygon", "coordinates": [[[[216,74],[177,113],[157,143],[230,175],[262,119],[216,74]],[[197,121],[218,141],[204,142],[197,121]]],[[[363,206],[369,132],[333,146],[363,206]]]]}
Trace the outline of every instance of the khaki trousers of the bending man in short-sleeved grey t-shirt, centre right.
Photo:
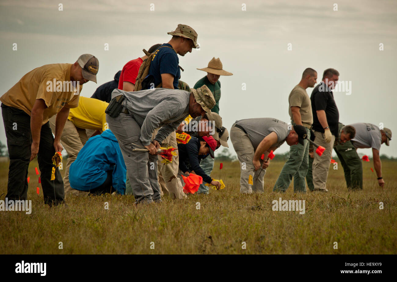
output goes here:
{"type": "MultiPolygon", "coordinates": [[[[240,162],[240,193],[263,193],[263,178],[266,174],[266,168],[263,170],[259,168],[255,171],[252,163],[255,151],[248,134],[233,124],[230,129],[230,139],[240,162]]],[[[259,161],[262,165],[263,160],[259,159],[259,161]]]]}

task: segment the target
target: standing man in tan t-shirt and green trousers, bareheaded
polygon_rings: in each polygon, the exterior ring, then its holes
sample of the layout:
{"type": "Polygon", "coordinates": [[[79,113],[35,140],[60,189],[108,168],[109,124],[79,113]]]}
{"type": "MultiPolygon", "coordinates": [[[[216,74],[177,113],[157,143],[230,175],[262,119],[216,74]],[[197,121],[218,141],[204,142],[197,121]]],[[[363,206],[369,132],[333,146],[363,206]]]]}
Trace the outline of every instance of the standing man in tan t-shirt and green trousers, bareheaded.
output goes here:
{"type": "MultiPolygon", "coordinates": [[[[308,139],[310,138],[313,114],[306,88],[314,87],[316,79],[317,72],[312,68],[307,68],[303,71],[301,81],[292,89],[288,97],[291,123],[306,127],[308,139]]],[[[309,141],[307,139],[304,140],[304,145],[298,144],[290,147],[289,158],[274,184],[273,191],[287,191],[292,178],[294,178],[294,192],[306,192],[305,177],[308,170],[308,155],[309,141]]]]}

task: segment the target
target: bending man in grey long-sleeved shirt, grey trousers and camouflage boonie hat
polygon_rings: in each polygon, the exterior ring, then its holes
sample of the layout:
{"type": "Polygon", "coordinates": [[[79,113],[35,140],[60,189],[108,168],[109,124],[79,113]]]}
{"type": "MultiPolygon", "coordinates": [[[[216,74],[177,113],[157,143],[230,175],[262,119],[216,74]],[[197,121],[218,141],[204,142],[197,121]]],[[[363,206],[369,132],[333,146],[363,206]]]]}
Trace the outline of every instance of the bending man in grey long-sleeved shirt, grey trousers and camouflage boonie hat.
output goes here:
{"type": "Polygon", "coordinates": [[[202,116],[210,113],[214,105],[214,96],[205,85],[190,92],[164,88],[113,91],[112,101],[106,109],[106,121],[119,141],[135,203],[161,202],[156,155],[161,141],[189,114],[194,118],[202,116]],[[158,127],[161,128],[151,141],[153,131],[158,127]],[[134,148],[148,149],[149,154],[133,151],[132,144],[135,144],[134,148]]]}

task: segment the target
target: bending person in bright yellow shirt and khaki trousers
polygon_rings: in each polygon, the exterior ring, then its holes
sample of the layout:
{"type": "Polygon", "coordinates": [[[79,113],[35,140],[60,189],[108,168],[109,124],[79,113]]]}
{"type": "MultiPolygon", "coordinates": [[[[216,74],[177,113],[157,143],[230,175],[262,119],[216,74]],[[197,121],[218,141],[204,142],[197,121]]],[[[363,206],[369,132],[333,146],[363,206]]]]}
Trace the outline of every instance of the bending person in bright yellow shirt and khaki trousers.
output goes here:
{"type": "MultiPolygon", "coordinates": [[[[76,160],[81,148],[83,148],[88,138],[102,133],[108,129],[106,123],[105,110],[108,107],[107,102],[87,97],[79,97],[79,106],[70,109],[69,116],[61,135],[61,143],[69,155],[66,163],[64,176],[65,196],[68,193],[74,195],[86,195],[88,192],[79,191],[70,187],[69,184],[69,168],[76,160]],[[94,129],[91,136],[87,136],[85,129],[94,129]]],[[[55,134],[56,116],[50,118],[50,127],[55,134]]]]}

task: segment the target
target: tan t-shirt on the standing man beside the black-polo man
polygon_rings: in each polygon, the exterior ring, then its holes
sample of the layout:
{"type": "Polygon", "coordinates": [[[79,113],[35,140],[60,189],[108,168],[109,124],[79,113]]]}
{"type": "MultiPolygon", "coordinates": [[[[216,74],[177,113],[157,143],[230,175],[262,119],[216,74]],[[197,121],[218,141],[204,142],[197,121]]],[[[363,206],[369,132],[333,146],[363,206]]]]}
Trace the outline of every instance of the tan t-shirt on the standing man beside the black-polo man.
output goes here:
{"type": "Polygon", "coordinates": [[[291,107],[300,107],[299,112],[301,113],[302,124],[306,124],[308,126],[313,124],[312,102],[310,101],[309,95],[307,95],[305,89],[299,85],[295,86],[289,94],[288,102],[288,113],[291,117],[291,122],[294,122],[291,107]]]}

